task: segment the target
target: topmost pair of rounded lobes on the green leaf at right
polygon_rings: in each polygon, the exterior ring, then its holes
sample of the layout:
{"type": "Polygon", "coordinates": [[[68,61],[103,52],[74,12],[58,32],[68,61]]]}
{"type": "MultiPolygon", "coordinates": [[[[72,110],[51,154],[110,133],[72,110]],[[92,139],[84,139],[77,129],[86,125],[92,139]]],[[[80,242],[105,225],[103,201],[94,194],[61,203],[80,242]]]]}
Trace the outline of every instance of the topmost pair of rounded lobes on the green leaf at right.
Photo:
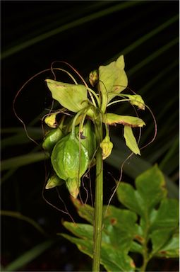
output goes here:
{"type": "Polygon", "coordinates": [[[164,188],[164,176],[155,165],[140,174],[135,182],[137,190],[129,184],[120,184],[117,191],[119,201],[127,208],[137,212],[138,215],[150,216],[155,205],[160,203],[160,200],[167,194],[167,190],[164,188]]]}

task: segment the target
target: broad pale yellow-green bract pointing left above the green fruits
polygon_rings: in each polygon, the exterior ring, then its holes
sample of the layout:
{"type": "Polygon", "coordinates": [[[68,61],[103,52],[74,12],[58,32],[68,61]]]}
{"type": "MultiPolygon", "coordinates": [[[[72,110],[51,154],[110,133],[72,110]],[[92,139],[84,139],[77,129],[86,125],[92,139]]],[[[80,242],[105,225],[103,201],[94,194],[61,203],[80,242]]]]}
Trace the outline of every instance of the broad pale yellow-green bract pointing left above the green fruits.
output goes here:
{"type": "Polygon", "coordinates": [[[52,97],[69,111],[77,113],[88,106],[88,91],[84,85],[68,84],[52,79],[45,81],[52,92],[52,97]]]}

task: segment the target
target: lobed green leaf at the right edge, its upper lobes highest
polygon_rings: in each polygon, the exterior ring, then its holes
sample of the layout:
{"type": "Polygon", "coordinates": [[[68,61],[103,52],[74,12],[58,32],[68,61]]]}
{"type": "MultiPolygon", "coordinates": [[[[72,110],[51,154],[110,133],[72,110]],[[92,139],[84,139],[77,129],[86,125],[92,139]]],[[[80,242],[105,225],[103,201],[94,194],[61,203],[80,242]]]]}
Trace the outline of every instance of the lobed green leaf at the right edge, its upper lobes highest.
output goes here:
{"type": "Polygon", "coordinates": [[[167,190],[164,185],[164,176],[155,165],[137,177],[137,189],[121,183],[117,191],[121,203],[140,215],[140,225],[136,227],[130,251],[143,254],[143,246],[148,246],[151,239],[152,250],[147,249],[150,251],[149,259],[153,256],[177,256],[174,232],[179,222],[179,203],[176,199],[165,198],[167,190]]]}

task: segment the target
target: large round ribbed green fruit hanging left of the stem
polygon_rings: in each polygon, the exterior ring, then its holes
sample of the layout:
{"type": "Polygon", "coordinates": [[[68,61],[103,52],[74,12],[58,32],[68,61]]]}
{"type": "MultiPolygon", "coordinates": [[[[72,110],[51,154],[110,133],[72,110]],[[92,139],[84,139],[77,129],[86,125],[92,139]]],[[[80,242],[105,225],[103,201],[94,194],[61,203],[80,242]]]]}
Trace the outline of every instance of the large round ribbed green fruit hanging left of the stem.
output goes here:
{"type": "MultiPolygon", "coordinates": [[[[80,178],[85,174],[90,162],[88,150],[80,144],[74,133],[69,133],[66,137],[56,143],[52,151],[52,166],[57,176],[64,181],[73,182],[73,197],[78,196],[80,178]],[[76,190],[74,183],[76,181],[76,190]]],[[[69,189],[69,186],[68,186],[69,189]]]]}

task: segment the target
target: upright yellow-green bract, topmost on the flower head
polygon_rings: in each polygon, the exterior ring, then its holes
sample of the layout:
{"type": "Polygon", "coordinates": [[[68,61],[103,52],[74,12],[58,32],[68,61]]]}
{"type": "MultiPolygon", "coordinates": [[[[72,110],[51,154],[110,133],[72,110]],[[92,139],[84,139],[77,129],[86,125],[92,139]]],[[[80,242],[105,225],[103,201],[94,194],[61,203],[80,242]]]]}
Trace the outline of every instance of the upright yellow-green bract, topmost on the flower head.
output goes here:
{"type": "Polygon", "coordinates": [[[126,89],[128,85],[124,66],[124,56],[121,55],[116,61],[99,67],[100,90],[102,94],[107,95],[108,102],[112,100],[116,94],[126,89]],[[114,96],[108,98],[108,93],[110,92],[114,92],[114,96]]]}

